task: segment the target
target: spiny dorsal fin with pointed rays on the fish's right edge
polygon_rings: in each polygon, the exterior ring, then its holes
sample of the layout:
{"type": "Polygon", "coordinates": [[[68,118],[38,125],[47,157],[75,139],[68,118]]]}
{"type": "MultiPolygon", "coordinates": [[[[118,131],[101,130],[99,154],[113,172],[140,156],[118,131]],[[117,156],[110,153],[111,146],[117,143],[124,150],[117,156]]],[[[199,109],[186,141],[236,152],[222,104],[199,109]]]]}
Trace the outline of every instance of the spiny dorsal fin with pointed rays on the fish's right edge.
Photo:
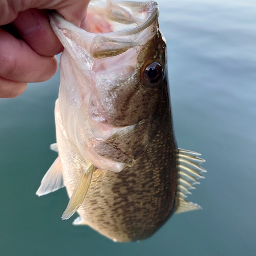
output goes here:
{"type": "Polygon", "coordinates": [[[177,157],[178,157],[178,187],[177,187],[177,197],[176,201],[178,203],[176,214],[180,212],[198,210],[202,209],[198,204],[188,202],[186,194],[191,194],[189,189],[195,188],[194,184],[199,184],[197,181],[200,178],[204,178],[201,173],[206,172],[206,170],[200,167],[202,162],[205,162],[204,159],[199,158],[200,154],[188,151],[181,150],[178,148],[177,157]]]}

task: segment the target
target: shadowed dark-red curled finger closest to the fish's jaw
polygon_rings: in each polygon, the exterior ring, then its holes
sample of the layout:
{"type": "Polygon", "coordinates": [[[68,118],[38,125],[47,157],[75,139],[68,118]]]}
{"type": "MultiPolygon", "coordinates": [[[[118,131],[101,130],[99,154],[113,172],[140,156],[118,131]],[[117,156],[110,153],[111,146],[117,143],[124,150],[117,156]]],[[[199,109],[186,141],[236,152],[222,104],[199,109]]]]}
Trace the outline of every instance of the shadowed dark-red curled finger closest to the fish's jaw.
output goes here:
{"type": "Polygon", "coordinates": [[[38,54],[53,56],[62,51],[63,47],[51,29],[46,11],[29,9],[20,12],[13,25],[20,36],[38,54]]]}

